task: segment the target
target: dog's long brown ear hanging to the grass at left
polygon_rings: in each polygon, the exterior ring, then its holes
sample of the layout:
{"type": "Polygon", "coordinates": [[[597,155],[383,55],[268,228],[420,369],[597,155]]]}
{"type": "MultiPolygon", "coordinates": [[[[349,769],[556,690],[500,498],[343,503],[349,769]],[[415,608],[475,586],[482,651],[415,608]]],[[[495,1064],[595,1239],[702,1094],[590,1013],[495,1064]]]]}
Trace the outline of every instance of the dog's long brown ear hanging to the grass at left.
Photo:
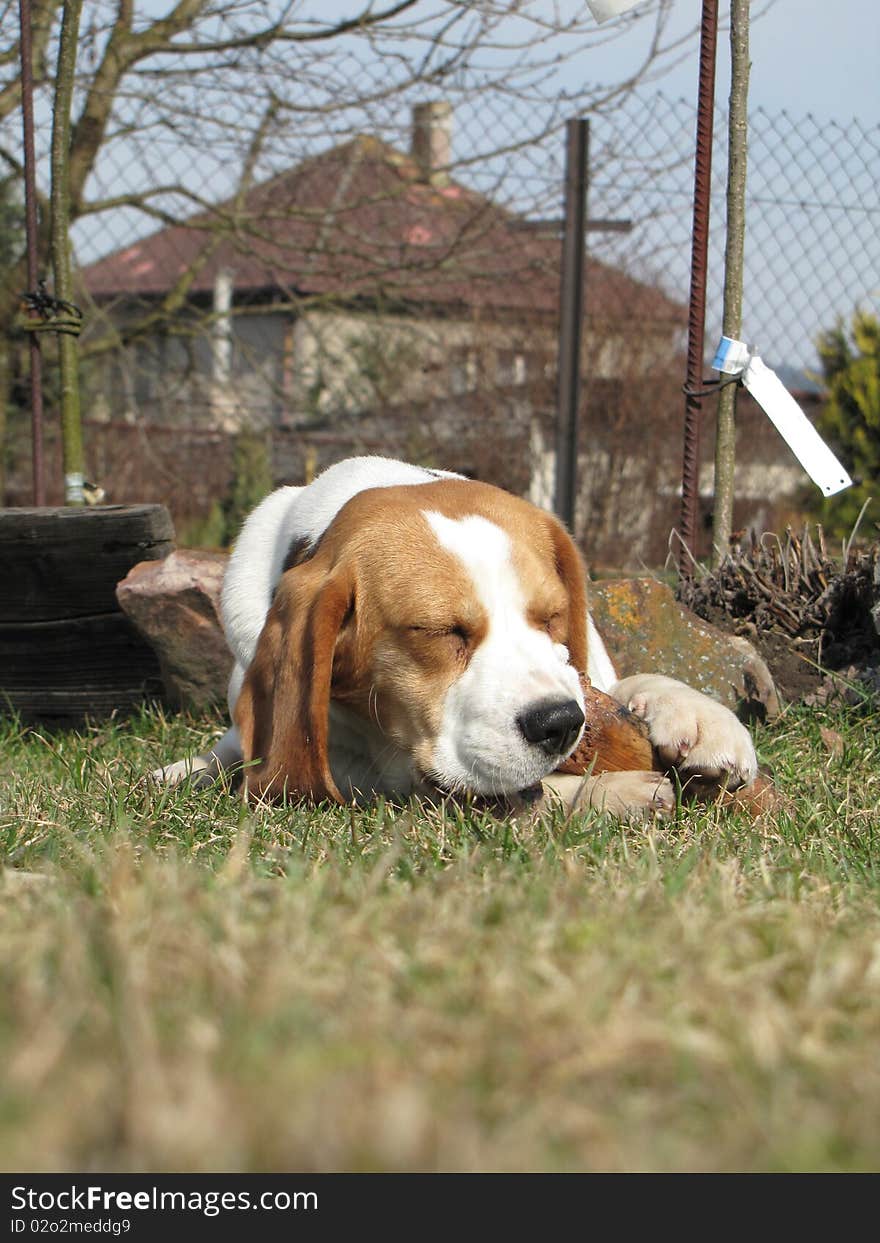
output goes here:
{"type": "Polygon", "coordinates": [[[322,558],[281,577],[235,705],[249,793],[346,802],[333,782],[327,733],[333,651],[354,603],[354,576],[322,558]]]}

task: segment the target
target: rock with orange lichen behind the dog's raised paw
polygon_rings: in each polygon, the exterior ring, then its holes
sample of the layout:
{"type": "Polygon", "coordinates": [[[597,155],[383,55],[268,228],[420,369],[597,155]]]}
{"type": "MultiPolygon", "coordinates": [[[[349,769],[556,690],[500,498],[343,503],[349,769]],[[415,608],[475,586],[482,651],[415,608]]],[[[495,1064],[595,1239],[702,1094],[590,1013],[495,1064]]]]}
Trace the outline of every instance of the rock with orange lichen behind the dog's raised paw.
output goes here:
{"type": "Polygon", "coordinates": [[[666,674],[726,704],[742,720],[771,720],[779,697],[752,644],[679,604],[654,578],[590,584],[593,619],[620,676],[666,674]]]}

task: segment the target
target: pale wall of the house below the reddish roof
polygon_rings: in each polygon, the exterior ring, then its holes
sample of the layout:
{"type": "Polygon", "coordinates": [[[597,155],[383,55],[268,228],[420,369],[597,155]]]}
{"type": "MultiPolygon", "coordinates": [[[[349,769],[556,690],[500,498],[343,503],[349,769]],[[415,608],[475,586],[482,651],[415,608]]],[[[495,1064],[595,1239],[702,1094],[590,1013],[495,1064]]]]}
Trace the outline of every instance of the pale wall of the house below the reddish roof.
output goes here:
{"type": "MultiPolygon", "coordinates": [[[[124,331],[133,308],[116,308],[124,331]]],[[[583,372],[644,375],[669,358],[667,324],[587,332],[583,372]]],[[[89,367],[93,418],[245,429],[527,390],[556,382],[557,326],[546,316],[419,316],[255,303],[231,316],[190,306],[173,324],[89,367]],[[227,329],[227,331],[226,331],[227,329]]]]}

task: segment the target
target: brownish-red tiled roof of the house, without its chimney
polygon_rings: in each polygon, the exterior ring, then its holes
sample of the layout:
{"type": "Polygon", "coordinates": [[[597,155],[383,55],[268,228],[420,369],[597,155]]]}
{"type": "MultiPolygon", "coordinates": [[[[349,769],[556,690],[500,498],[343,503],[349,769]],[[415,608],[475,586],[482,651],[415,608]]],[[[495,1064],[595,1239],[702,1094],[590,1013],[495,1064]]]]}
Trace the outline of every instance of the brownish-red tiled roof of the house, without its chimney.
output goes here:
{"type": "MultiPolygon", "coordinates": [[[[556,314],[561,240],[522,224],[455,181],[425,183],[408,155],[359,135],[255,186],[237,206],[229,200],[91,264],[82,277],[97,298],[158,296],[205,252],[193,292],[231,268],[239,293],[556,314]]],[[[587,313],[675,326],[685,317],[660,290],[598,260],[588,262],[587,313]]]]}

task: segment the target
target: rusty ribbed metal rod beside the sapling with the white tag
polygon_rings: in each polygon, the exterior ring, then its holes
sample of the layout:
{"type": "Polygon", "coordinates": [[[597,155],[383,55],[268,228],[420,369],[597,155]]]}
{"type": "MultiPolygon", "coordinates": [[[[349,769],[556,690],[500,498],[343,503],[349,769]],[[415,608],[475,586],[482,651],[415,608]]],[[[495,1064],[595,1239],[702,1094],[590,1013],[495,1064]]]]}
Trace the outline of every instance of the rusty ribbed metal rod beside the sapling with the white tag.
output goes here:
{"type": "Polygon", "coordinates": [[[697,97],[696,160],[694,168],[694,232],[691,290],[687,312],[687,375],[685,382],[685,451],[681,467],[681,549],[679,576],[690,578],[696,557],[696,516],[700,501],[700,415],[706,332],[706,271],[708,267],[708,209],[712,190],[712,121],[715,116],[715,58],[718,37],[718,0],[702,0],[700,26],[700,86],[697,97]]]}

